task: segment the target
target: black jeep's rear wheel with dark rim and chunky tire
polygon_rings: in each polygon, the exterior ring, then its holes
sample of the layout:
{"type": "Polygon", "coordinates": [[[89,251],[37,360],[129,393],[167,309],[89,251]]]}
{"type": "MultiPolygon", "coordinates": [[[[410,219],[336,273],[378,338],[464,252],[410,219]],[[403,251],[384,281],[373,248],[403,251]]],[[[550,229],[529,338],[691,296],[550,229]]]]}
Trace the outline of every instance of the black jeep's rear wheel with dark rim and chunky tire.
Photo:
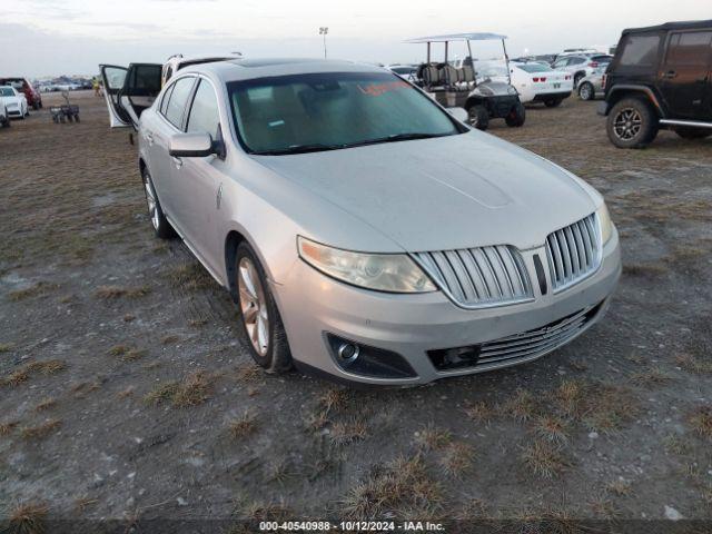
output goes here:
{"type": "Polygon", "coordinates": [[[624,98],[609,113],[606,132],[619,148],[645,148],[655,136],[660,125],[653,107],[641,98],[624,98]]]}

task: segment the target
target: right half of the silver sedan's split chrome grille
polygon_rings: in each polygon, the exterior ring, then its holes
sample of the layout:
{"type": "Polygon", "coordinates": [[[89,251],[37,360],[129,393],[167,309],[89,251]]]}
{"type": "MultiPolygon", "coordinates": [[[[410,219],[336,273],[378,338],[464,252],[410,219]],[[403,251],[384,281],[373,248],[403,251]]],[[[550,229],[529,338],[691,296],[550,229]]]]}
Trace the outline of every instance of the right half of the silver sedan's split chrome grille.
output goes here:
{"type": "Polygon", "coordinates": [[[546,237],[546,258],[554,291],[570,287],[601,265],[601,234],[596,215],[581,219],[546,237]]]}

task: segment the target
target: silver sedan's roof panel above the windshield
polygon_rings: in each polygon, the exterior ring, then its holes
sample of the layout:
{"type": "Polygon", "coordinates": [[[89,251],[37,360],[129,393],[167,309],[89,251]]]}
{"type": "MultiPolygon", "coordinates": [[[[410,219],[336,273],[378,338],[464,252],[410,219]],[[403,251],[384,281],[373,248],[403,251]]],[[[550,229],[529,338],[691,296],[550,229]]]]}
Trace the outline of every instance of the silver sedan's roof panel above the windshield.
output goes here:
{"type": "Polygon", "coordinates": [[[317,72],[389,72],[383,67],[354,61],[314,58],[230,59],[181,69],[182,72],[211,72],[224,81],[317,72]]]}

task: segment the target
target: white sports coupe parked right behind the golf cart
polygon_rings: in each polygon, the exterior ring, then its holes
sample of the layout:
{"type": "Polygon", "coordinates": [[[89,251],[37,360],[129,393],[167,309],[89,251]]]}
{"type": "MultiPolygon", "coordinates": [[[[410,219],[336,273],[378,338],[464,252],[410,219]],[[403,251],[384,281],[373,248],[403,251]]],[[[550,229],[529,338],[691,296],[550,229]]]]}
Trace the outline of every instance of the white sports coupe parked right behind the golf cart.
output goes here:
{"type": "Polygon", "coordinates": [[[572,76],[558,72],[540,62],[510,63],[510,75],[502,61],[477,61],[475,63],[477,78],[491,79],[512,83],[520,93],[522,103],[544,102],[548,108],[555,108],[574,89],[572,76]]]}

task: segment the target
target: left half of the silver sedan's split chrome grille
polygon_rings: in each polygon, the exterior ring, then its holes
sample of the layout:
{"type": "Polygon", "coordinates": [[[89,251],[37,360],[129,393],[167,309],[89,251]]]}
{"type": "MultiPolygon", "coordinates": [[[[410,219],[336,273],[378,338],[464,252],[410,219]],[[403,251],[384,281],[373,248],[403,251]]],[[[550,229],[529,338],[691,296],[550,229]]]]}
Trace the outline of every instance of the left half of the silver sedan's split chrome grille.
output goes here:
{"type": "Polygon", "coordinates": [[[506,245],[418,253],[415,259],[455,303],[500,306],[533,298],[524,260],[506,245]]]}

